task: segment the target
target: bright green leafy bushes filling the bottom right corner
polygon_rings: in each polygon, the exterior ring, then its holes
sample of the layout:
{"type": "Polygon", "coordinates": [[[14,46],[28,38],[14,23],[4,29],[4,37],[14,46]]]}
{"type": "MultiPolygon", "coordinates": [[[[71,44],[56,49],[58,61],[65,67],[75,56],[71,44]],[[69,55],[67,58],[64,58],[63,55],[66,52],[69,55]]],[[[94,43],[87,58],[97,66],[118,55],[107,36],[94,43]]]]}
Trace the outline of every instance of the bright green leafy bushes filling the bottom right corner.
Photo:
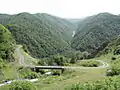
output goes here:
{"type": "Polygon", "coordinates": [[[84,84],[74,84],[66,90],[119,90],[120,76],[107,77],[103,80],[92,81],[84,84]]]}

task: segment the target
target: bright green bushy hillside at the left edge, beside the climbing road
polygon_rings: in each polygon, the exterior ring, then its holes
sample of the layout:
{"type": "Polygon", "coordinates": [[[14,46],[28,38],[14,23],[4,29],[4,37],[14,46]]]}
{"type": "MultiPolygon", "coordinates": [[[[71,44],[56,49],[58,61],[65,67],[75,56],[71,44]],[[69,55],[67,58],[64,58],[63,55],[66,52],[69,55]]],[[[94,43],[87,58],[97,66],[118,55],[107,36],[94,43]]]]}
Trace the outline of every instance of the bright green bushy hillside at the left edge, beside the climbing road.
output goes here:
{"type": "Polygon", "coordinates": [[[15,40],[7,28],[0,24],[0,58],[12,60],[15,40]]]}

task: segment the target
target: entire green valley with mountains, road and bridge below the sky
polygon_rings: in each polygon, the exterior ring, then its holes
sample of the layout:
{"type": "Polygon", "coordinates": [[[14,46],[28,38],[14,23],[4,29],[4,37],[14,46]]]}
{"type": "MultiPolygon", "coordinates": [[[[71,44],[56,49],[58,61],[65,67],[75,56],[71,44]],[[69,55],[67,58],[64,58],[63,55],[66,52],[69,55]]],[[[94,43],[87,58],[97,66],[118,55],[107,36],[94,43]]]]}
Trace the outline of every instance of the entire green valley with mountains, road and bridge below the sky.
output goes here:
{"type": "Polygon", "coordinates": [[[119,35],[110,13],[0,14],[0,90],[119,90],[119,35]]]}

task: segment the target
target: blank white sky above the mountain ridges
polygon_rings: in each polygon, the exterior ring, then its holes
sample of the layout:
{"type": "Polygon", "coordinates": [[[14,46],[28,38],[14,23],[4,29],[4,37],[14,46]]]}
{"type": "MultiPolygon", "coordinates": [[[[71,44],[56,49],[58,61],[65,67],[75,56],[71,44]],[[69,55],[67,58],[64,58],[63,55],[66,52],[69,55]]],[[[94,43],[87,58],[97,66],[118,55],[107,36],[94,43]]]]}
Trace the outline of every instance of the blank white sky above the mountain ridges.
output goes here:
{"type": "Polygon", "coordinates": [[[62,18],[82,18],[109,12],[120,14],[120,0],[0,0],[0,13],[48,13],[62,18]]]}

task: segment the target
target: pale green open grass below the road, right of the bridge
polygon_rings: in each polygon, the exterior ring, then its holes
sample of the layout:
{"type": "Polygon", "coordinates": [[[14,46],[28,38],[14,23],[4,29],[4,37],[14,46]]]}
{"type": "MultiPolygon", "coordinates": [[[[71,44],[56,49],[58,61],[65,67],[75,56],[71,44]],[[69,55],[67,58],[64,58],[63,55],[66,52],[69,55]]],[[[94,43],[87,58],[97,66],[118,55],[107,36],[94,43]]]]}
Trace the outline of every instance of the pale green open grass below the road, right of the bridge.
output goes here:
{"type": "Polygon", "coordinates": [[[61,76],[41,77],[35,84],[40,90],[64,90],[69,85],[102,79],[105,69],[78,69],[61,76]]]}

